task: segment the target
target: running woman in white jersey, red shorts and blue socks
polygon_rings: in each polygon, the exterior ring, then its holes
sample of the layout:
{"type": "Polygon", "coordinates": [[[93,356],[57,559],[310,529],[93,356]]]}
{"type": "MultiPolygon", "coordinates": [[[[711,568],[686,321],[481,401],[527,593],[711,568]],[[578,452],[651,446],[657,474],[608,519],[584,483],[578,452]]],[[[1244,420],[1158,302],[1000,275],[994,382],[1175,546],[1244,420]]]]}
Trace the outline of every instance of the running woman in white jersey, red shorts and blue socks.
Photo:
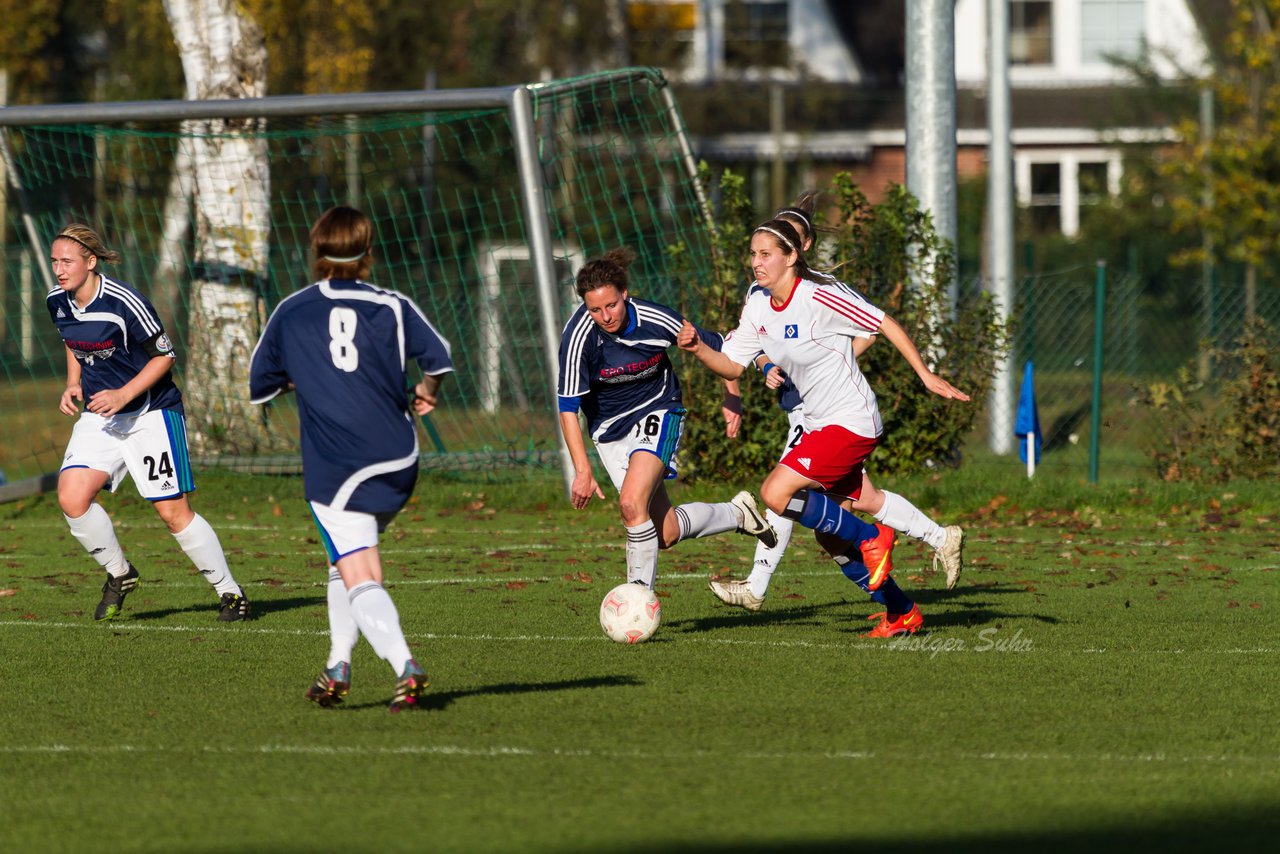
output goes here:
{"type": "Polygon", "coordinates": [[[809,269],[795,228],[773,219],[751,236],[751,266],[764,289],[751,294],[737,329],[716,352],[690,326],[680,346],[726,379],[741,376],[759,353],[782,369],[804,398],[804,435],[760,487],[774,513],[814,530],[818,542],[855,581],[882,603],[872,636],[918,631],[923,617],[890,577],[893,531],[851,511],[861,492],[863,463],[883,425],[876,394],[859,370],[850,341],[879,333],[902,353],[925,387],[942,397],[969,397],[934,375],[910,335],[881,309],[833,278],[809,269]]]}

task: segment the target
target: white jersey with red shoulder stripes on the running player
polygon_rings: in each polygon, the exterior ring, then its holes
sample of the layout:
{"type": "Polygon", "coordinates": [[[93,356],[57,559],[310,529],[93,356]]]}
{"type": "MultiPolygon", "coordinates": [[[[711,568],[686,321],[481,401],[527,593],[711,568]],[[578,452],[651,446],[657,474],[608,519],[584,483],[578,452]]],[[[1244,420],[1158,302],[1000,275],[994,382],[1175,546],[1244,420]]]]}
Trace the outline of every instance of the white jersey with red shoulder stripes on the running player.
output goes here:
{"type": "Polygon", "coordinates": [[[768,291],[753,291],[722,352],[744,366],[764,352],[781,367],[804,398],[805,430],[835,424],[876,438],[884,425],[850,342],[874,335],[883,319],[881,309],[846,284],[800,279],[781,306],[768,291]]]}

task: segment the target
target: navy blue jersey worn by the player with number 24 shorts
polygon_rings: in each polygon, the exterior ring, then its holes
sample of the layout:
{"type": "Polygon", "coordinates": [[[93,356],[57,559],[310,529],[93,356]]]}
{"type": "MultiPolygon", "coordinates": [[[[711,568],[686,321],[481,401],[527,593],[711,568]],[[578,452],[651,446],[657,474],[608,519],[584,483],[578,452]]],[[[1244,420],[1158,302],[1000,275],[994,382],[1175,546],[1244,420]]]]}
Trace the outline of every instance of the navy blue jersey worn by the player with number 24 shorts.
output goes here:
{"type": "MultiPolygon", "coordinates": [[[[45,305],[79,362],[86,401],[97,392],[124,388],[156,356],[177,359],[151,302],[122,282],[99,275],[97,293],[83,309],[61,288],[50,291],[45,305]]],[[[182,392],[170,374],[120,407],[119,415],[151,410],[182,412],[182,392]]]]}

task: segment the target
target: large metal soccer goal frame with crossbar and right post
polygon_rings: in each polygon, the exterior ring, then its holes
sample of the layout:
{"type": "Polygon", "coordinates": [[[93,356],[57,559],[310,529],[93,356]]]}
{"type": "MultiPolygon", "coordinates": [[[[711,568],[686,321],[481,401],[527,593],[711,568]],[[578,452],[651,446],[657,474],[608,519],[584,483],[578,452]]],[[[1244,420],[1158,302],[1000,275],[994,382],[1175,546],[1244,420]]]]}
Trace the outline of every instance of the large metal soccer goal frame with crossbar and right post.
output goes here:
{"type": "MultiPolygon", "coordinates": [[[[536,296],[538,318],[540,325],[543,360],[549,367],[545,382],[549,383],[552,406],[556,403],[556,370],[558,364],[559,335],[563,324],[562,311],[564,309],[562,294],[558,288],[557,259],[571,260],[580,264],[584,260],[582,250],[557,243],[553,238],[553,228],[548,216],[549,187],[544,174],[545,164],[540,159],[540,146],[545,145],[545,128],[539,128],[535,115],[535,99],[547,87],[557,87],[557,93],[572,90],[575,86],[596,86],[602,79],[609,83],[625,83],[628,81],[646,81],[660,92],[662,109],[669,114],[669,122],[676,132],[672,134],[672,163],[678,164],[684,172],[681,181],[692,184],[696,195],[696,204],[700,207],[703,225],[709,227],[710,206],[705,197],[701,183],[698,179],[698,169],[694,160],[691,145],[684,122],[680,118],[676,101],[669,87],[657,69],[636,68],[608,72],[604,74],[577,78],[575,81],[556,81],[552,83],[520,85],[490,88],[461,88],[461,90],[422,90],[401,92],[374,92],[352,95],[297,95],[297,96],[269,96],[261,99],[243,100],[205,100],[205,101],[131,101],[108,104],[59,104],[40,106],[9,106],[0,109],[0,157],[3,157],[4,173],[9,186],[14,191],[18,216],[15,224],[23,230],[24,241],[36,257],[45,257],[47,247],[41,237],[40,228],[28,214],[28,205],[23,197],[26,188],[20,178],[19,169],[14,164],[8,133],[23,127],[46,125],[92,125],[92,124],[147,124],[159,122],[216,122],[216,120],[251,120],[251,119],[280,119],[305,118],[315,115],[348,115],[361,117],[372,114],[419,113],[419,111],[463,111],[463,110],[504,110],[509,117],[512,128],[511,145],[515,151],[516,166],[518,170],[520,197],[524,215],[525,242],[517,246],[488,247],[492,255],[490,261],[497,264],[500,255],[504,259],[527,261],[532,274],[532,284],[536,296]],[[497,255],[494,255],[497,254],[497,255]]],[[[659,110],[660,113],[660,110],[659,110]]],[[[3,184],[0,184],[3,189],[3,184]]],[[[558,201],[558,200],[557,200],[558,201]]],[[[481,257],[484,257],[481,252],[481,257]]],[[[44,283],[52,288],[47,265],[36,264],[45,277],[44,283]]],[[[483,273],[483,271],[481,271],[483,273]]],[[[497,271],[492,271],[497,275],[497,271]]],[[[488,302],[494,303],[498,292],[492,291],[493,297],[488,302]]],[[[490,319],[492,320],[492,319],[490,319]]],[[[489,320],[492,329],[497,326],[489,320]]],[[[494,366],[492,356],[486,356],[484,375],[488,378],[490,392],[484,396],[483,406],[497,406],[497,389],[499,385],[500,366],[494,366]]],[[[558,423],[556,412],[552,412],[553,421],[558,423]]],[[[564,478],[566,489],[572,483],[573,467],[564,446],[563,435],[556,430],[561,471],[564,478]]],[[[35,479],[33,479],[35,480],[35,479]]]]}

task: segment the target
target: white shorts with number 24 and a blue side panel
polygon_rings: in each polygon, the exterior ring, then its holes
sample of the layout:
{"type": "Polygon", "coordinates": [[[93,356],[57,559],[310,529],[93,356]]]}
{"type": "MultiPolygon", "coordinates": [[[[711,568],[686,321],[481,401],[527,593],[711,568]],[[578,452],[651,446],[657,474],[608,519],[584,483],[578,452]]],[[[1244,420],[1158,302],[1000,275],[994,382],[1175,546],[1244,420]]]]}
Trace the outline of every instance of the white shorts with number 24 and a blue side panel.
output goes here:
{"type": "Polygon", "coordinates": [[[128,471],[147,501],[196,490],[187,455],[187,423],[177,410],[151,410],[136,417],[81,412],[67,443],[61,471],[105,471],[115,492],[128,471]]]}

